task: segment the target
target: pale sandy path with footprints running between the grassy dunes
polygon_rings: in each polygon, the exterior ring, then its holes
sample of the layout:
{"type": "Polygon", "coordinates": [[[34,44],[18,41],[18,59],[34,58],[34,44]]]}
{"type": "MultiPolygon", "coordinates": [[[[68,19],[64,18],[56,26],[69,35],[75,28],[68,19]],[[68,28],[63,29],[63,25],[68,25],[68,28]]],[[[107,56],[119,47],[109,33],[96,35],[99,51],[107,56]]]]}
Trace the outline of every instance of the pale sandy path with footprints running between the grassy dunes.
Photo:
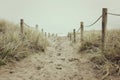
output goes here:
{"type": "Polygon", "coordinates": [[[45,53],[0,69],[0,80],[97,80],[91,63],[65,37],[52,40],[45,53]]]}

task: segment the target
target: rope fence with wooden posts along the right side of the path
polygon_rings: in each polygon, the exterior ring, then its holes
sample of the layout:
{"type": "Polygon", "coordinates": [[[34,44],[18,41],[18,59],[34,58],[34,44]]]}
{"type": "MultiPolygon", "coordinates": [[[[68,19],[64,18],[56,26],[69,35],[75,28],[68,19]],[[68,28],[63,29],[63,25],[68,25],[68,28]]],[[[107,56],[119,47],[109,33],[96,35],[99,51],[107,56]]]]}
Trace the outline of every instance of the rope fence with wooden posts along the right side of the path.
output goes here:
{"type": "MultiPolygon", "coordinates": [[[[84,27],[92,27],[93,25],[95,25],[98,21],[100,21],[100,19],[102,20],[101,21],[101,24],[102,24],[102,39],[101,39],[101,42],[102,42],[102,52],[104,53],[104,50],[105,50],[105,46],[106,46],[106,32],[107,32],[107,15],[113,15],[113,16],[120,16],[120,14],[116,14],[116,13],[108,13],[107,12],[107,8],[103,8],[102,9],[102,15],[100,15],[93,23],[91,23],[90,25],[87,25],[87,26],[84,26],[83,22],[80,23],[80,27],[77,29],[77,33],[81,30],[81,33],[80,33],[80,38],[81,38],[81,46],[84,42],[84,27]]],[[[75,34],[75,30],[73,32],[73,36],[76,36],[75,34]]],[[[69,32],[68,33],[68,38],[70,38],[71,40],[71,33],[69,32]]],[[[76,41],[75,38],[76,37],[73,37],[73,41],[76,41]]]]}

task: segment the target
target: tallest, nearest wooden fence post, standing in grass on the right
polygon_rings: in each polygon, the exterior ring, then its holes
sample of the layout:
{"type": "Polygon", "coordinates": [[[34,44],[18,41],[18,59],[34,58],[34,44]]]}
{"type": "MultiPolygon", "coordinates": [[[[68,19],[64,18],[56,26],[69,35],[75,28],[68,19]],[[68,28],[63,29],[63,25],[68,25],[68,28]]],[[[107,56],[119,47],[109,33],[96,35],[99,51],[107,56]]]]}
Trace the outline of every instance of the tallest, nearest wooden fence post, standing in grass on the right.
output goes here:
{"type": "Polygon", "coordinates": [[[107,8],[102,9],[102,51],[105,50],[106,42],[106,26],[107,26],[107,8]]]}

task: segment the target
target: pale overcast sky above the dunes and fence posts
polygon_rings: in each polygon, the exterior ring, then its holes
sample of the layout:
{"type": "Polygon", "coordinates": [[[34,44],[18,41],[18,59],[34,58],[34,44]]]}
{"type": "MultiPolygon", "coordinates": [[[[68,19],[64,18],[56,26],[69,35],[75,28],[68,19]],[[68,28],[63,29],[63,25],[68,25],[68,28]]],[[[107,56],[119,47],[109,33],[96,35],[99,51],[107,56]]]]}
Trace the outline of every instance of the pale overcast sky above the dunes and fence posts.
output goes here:
{"type": "MultiPolygon", "coordinates": [[[[94,22],[102,8],[120,13],[119,0],[0,0],[0,18],[19,23],[21,18],[31,25],[39,25],[44,31],[65,34],[94,22]]],[[[108,16],[107,28],[120,28],[119,16],[108,16]]],[[[101,21],[87,28],[101,29],[101,21]]]]}

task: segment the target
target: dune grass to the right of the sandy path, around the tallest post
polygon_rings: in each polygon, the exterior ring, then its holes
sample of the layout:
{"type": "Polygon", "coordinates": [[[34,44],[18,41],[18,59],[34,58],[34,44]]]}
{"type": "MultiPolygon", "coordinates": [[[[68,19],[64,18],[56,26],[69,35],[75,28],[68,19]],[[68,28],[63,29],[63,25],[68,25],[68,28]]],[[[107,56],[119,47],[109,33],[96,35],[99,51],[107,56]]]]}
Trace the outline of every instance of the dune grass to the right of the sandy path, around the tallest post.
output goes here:
{"type": "Polygon", "coordinates": [[[101,31],[87,31],[84,34],[84,44],[80,51],[90,53],[93,69],[101,80],[111,76],[120,76],[120,30],[108,30],[104,54],[101,51],[101,31]]]}

